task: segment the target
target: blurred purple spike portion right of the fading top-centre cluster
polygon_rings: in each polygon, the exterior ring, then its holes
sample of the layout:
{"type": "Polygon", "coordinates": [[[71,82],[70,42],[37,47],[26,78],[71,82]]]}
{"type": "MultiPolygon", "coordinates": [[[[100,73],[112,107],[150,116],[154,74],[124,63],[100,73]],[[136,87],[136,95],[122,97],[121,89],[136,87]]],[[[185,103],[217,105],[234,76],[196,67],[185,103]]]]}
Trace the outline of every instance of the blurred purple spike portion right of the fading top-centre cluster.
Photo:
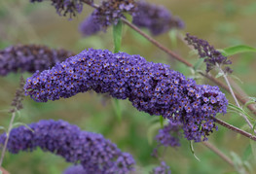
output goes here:
{"type": "Polygon", "coordinates": [[[137,9],[132,22],[139,27],[148,28],[153,35],[163,34],[171,28],[184,27],[184,22],[178,17],[173,17],[164,6],[139,1],[137,9]]]}

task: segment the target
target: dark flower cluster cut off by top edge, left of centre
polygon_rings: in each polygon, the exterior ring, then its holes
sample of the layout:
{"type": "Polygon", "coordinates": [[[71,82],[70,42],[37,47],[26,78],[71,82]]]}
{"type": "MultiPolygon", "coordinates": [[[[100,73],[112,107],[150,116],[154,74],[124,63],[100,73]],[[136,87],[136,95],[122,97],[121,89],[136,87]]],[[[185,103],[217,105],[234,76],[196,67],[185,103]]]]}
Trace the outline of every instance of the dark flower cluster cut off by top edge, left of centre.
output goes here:
{"type": "MultiPolygon", "coordinates": [[[[43,2],[45,0],[30,0],[30,2],[43,2]]],[[[56,13],[59,16],[76,17],[77,13],[81,13],[83,10],[83,4],[92,4],[93,0],[51,0],[52,5],[55,6],[56,13]]]]}

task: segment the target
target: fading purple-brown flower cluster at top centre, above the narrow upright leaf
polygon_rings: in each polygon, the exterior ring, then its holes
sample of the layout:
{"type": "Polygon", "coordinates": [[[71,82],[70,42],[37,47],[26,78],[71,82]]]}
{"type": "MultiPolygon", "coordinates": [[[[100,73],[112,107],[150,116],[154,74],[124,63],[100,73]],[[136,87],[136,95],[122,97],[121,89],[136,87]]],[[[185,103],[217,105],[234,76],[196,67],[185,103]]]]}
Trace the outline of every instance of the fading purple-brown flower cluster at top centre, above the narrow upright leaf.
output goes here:
{"type": "Polygon", "coordinates": [[[120,17],[124,14],[134,14],[136,11],[136,3],[134,0],[107,0],[103,1],[93,13],[95,21],[105,29],[111,24],[117,24],[120,17]]]}

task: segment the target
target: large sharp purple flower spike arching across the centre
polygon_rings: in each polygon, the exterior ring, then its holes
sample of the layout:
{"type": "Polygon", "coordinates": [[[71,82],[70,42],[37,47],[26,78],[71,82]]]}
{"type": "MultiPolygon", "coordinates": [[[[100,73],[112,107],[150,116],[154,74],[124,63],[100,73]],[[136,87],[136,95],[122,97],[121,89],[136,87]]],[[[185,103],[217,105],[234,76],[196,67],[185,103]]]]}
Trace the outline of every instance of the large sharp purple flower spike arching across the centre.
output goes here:
{"type": "Polygon", "coordinates": [[[226,113],[228,104],[218,87],[197,85],[168,65],[147,62],[140,55],[107,50],[85,50],[51,70],[36,72],[24,88],[38,102],[88,90],[128,98],[139,111],[181,122],[185,137],[197,142],[216,128],[210,117],[226,113]]]}

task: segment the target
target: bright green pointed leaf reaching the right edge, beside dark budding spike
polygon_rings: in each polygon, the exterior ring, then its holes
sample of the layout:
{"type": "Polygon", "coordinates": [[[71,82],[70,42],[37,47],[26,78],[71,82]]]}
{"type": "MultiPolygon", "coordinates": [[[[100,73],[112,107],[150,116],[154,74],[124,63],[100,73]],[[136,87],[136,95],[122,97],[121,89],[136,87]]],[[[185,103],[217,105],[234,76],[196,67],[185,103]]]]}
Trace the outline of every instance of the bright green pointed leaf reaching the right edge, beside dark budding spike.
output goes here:
{"type": "Polygon", "coordinates": [[[238,45],[238,46],[228,47],[219,51],[224,56],[230,56],[230,55],[234,55],[241,52],[256,52],[256,49],[246,45],[238,45]]]}

